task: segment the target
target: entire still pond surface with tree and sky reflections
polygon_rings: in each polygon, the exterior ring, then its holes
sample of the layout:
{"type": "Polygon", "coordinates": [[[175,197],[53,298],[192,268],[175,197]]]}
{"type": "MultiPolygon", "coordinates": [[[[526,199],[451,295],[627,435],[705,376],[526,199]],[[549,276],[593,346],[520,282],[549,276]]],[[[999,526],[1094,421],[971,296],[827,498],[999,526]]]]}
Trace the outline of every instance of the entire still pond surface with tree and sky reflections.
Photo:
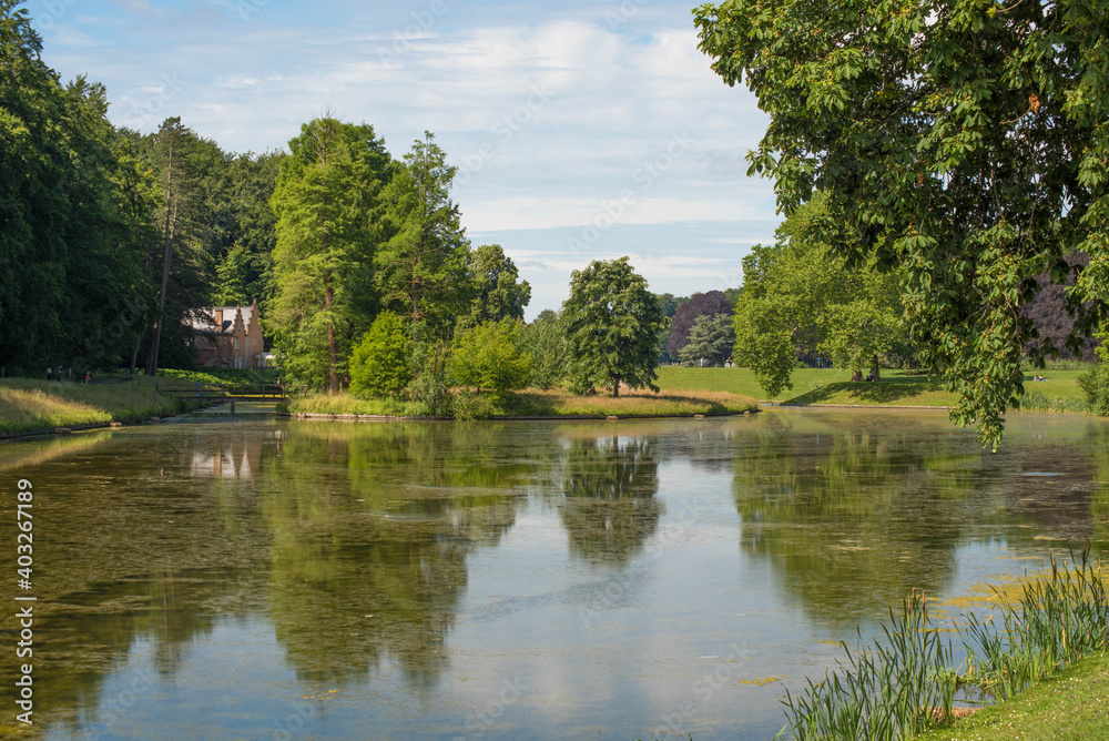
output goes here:
{"type": "Polygon", "coordinates": [[[35,494],[33,735],[767,739],[910,588],[1105,545],[1109,426],[1008,430],[991,454],[942,413],[774,410],[0,447],[35,494]]]}

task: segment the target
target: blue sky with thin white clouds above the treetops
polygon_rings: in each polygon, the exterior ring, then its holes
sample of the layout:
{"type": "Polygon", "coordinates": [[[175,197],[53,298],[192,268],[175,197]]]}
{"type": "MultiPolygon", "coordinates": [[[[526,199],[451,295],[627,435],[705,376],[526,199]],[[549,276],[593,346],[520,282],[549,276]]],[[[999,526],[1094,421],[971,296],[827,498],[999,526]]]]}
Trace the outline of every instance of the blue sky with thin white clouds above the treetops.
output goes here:
{"type": "Polygon", "coordinates": [[[110,118],[180,115],[234,152],[330,110],[403,155],[424,130],[475,245],[558,308],[570,272],[631,255],[655,292],[740,284],[779,223],[744,155],[766,125],[696,50],[695,0],[28,0],[44,60],[108,87],[110,118]]]}

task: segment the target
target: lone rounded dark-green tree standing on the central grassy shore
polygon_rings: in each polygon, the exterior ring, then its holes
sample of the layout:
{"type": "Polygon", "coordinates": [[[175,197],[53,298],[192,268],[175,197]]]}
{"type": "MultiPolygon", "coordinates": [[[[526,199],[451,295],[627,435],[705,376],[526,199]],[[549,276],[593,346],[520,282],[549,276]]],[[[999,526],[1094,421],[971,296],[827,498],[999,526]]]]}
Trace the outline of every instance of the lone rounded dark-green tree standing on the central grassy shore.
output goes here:
{"type": "Polygon", "coordinates": [[[657,335],[665,317],[628,257],[594,260],[571,273],[570,297],[562,304],[560,321],[576,390],[607,386],[619,396],[620,384],[659,390],[657,335]]]}

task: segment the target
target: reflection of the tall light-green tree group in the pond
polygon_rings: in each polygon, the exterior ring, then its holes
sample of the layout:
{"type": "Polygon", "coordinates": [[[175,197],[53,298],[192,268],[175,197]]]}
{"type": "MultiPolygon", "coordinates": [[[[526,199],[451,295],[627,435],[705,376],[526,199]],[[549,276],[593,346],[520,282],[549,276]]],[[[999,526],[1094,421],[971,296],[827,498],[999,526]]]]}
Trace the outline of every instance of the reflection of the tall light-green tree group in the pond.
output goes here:
{"type": "Polygon", "coordinates": [[[268,461],[271,617],[302,680],[342,684],[399,662],[430,688],[466,558],[516,519],[528,467],[496,434],[450,425],[296,426],[268,461]]]}

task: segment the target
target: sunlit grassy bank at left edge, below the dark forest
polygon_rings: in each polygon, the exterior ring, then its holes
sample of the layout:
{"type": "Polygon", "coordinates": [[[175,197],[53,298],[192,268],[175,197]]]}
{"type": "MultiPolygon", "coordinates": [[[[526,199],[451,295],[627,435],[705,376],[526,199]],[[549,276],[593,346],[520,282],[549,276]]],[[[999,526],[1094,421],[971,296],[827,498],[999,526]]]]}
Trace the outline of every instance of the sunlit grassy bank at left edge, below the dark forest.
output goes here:
{"type": "Polygon", "coordinates": [[[184,410],[174,396],[159,394],[156,378],[116,384],[6,378],[0,380],[0,433],[108,424],[184,410]]]}

